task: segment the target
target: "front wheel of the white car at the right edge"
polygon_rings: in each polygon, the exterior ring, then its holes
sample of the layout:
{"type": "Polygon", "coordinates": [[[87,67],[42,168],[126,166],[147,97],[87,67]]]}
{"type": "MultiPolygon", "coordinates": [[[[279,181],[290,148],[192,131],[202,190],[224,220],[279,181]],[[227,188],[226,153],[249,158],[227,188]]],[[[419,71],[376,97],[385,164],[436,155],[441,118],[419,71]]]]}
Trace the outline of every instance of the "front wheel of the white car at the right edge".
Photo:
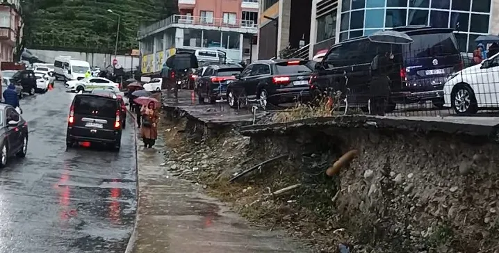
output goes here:
{"type": "Polygon", "coordinates": [[[478,111],[475,92],[468,85],[456,85],[450,99],[450,104],[457,114],[475,114],[478,111]]]}

